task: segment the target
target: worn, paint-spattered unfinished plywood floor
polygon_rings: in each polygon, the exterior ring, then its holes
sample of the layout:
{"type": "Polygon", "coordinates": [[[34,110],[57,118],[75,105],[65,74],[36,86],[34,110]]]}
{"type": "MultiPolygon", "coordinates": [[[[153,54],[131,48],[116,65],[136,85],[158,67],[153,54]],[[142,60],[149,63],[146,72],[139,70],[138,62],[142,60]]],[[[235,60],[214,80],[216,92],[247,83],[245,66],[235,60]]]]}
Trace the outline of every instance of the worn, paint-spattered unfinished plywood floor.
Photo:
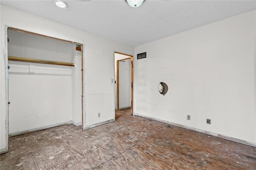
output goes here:
{"type": "Polygon", "coordinates": [[[256,170],[256,148],[116,112],[89,130],[64,125],[9,138],[1,170],[256,170]]]}

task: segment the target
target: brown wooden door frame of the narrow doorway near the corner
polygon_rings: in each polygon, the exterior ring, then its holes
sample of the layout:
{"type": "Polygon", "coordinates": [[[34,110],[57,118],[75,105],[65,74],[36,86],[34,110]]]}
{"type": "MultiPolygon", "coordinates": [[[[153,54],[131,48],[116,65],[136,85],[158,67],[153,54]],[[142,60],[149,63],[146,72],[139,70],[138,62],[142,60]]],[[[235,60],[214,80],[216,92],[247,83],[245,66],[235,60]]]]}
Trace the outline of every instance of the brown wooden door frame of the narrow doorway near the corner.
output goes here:
{"type": "Polygon", "coordinates": [[[117,110],[119,110],[119,61],[125,60],[125,59],[131,59],[131,115],[133,115],[133,55],[120,53],[120,52],[114,52],[115,54],[122,54],[126,55],[127,57],[124,57],[122,59],[116,60],[116,97],[117,97],[117,110]]]}

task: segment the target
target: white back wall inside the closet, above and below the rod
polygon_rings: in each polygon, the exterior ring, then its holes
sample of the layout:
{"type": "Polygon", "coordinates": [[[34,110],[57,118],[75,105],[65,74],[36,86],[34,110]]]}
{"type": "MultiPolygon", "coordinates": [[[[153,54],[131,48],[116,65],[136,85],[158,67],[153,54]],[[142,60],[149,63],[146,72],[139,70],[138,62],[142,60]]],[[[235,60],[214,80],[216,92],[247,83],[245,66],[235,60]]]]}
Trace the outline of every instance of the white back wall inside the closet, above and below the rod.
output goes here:
{"type": "MultiPolygon", "coordinates": [[[[76,49],[72,43],[14,30],[8,30],[8,38],[10,56],[71,62],[76,49]]],[[[74,67],[18,61],[9,65],[9,134],[72,120],[74,67]],[[34,67],[32,75],[29,66],[34,67]]]]}

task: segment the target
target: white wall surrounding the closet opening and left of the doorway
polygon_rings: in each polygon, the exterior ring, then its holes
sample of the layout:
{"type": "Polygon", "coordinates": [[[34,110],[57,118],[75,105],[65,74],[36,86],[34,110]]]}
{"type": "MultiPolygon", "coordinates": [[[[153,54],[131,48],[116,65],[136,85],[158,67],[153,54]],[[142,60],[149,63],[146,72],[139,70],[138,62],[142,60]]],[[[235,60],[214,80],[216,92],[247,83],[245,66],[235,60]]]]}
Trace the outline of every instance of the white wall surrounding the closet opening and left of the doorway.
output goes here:
{"type": "Polygon", "coordinates": [[[134,47],[0,4],[0,149],[6,150],[5,25],[84,44],[84,128],[114,119],[114,51],[134,47]],[[98,112],[101,117],[98,118],[98,112]]]}

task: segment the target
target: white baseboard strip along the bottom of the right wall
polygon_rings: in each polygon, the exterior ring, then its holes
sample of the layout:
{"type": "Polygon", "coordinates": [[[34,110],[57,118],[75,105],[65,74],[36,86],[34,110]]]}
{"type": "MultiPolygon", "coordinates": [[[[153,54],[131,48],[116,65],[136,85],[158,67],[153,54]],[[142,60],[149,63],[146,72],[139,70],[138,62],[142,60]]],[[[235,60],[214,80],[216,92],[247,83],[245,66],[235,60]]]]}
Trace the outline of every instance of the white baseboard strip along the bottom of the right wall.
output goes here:
{"type": "Polygon", "coordinates": [[[177,123],[172,123],[172,122],[169,122],[169,121],[164,121],[164,120],[161,120],[161,119],[156,119],[156,118],[153,118],[153,117],[144,116],[144,115],[140,115],[140,114],[137,114],[137,113],[134,113],[134,115],[138,116],[138,117],[143,117],[143,118],[146,118],[146,119],[150,119],[150,120],[153,120],[153,121],[158,121],[158,122],[161,122],[161,123],[165,123],[165,124],[168,124],[168,125],[173,125],[173,126],[180,127],[180,128],[185,128],[185,129],[188,129],[188,130],[193,130],[195,132],[200,132],[200,133],[203,133],[203,134],[208,134],[210,136],[214,136],[214,137],[230,140],[232,142],[237,142],[237,143],[240,143],[240,144],[245,144],[245,145],[252,146],[252,147],[256,148],[256,143],[253,143],[253,142],[247,142],[245,140],[241,140],[241,139],[237,139],[237,138],[232,138],[232,137],[229,137],[229,136],[225,136],[225,135],[221,135],[221,134],[217,134],[217,133],[213,133],[213,132],[208,132],[208,131],[205,131],[205,130],[200,130],[198,128],[187,127],[187,126],[180,125],[180,124],[177,124],[177,123]]]}

